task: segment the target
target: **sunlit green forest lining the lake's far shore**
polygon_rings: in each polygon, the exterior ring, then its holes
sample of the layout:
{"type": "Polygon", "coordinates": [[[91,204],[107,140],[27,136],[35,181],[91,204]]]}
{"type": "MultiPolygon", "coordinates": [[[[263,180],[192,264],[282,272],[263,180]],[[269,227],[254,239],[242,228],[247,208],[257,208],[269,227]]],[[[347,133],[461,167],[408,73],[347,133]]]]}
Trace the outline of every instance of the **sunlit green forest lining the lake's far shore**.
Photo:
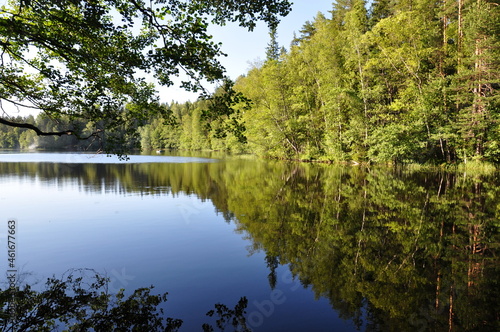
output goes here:
{"type": "MultiPolygon", "coordinates": [[[[231,112],[208,111],[201,99],[172,102],[164,105],[169,115],[149,119],[130,146],[307,161],[498,163],[499,4],[338,0],[288,47],[270,29],[266,59],[214,93],[230,94],[231,112]]],[[[68,145],[67,137],[0,130],[4,148],[68,145]]]]}

